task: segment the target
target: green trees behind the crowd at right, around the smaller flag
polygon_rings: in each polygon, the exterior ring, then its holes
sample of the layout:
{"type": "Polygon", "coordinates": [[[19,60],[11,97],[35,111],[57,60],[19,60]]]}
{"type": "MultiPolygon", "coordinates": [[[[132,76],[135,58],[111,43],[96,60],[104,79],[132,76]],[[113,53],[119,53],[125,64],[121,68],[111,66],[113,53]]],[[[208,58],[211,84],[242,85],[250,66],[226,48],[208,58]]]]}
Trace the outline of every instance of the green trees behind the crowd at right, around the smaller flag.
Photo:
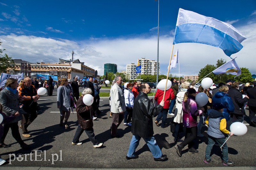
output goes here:
{"type": "MultiPolygon", "coordinates": [[[[202,68],[199,71],[198,80],[201,80],[207,74],[211,73],[213,70],[215,70],[216,68],[222,66],[225,63],[226,63],[226,60],[221,58],[221,59],[219,59],[217,61],[215,66],[207,64],[204,68],[202,68]]],[[[227,74],[227,73],[224,73],[224,74],[214,74],[214,73],[211,73],[207,77],[210,77],[212,79],[212,81],[215,82],[215,83],[220,83],[220,82],[224,82],[225,83],[226,80],[228,80],[228,79],[231,79],[231,80],[234,80],[234,81],[238,81],[238,82],[241,82],[241,83],[252,82],[253,78],[252,78],[252,74],[249,71],[249,69],[245,68],[245,67],[241,67],[240,69],[241,69],[241,75],[237,76],[236,78],[235,78],[235,75],[231,75],[231,74],[227,74]]]]}

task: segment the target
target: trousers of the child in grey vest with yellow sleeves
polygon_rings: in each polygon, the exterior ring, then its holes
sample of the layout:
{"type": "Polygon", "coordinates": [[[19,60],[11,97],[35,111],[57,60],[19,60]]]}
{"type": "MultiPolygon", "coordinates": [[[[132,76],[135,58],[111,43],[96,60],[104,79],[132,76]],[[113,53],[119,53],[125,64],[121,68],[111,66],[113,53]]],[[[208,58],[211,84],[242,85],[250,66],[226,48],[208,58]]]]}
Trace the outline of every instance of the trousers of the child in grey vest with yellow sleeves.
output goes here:
{"type": "MultiPolygon", "coordinates": [[[[225,138],[217,139],[217,138],[214,138],[212,136],[208,136],[208,145],[207,145],[206,150],[205,150],[205,158],[206,159],[211,159],[210,154],[211,154],[212,147],[215,144],[215,142],[217,142],[221,146],[221,145],[223,145],[223,143],[225,141],[226,141],[225,138]]],[[[227,145],[227,143],[225,143],[222,146],[222,156],[223,156],[222,160],[224,160],[225,162],[228,162],[228,145],[227,145]]]]}

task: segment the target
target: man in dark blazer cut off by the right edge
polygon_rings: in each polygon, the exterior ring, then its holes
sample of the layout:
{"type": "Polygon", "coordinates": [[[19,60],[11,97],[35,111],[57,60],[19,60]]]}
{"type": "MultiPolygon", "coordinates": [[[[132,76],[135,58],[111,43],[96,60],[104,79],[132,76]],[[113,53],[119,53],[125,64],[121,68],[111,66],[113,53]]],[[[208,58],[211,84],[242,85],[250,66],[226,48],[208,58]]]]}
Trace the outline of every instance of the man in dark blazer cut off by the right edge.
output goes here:
{"type": "Polygon", "coordinates": [[[249,106],[250,126],[256,127],[256,82],[252,84],[253,88],[247,90],[247,96],[249,97],[247,105],[249,106]]]}

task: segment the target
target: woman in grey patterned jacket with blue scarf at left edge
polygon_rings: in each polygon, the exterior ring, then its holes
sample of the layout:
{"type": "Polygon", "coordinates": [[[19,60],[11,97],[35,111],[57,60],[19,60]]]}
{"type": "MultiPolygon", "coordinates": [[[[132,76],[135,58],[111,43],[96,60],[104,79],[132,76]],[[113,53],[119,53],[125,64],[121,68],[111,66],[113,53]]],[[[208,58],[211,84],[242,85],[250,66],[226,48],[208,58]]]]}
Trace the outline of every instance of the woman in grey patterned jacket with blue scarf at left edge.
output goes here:
{"type": "Polygon", "coordinates": [[[17,79],[9,78],[5,83],[5,88],[0,93],[0,103],[3,105],[3,112],[6,116],[15,116],[15,119],[11,122],[4,123],[4,134],[0,138],[0,147],[9,147],[10,145],[4,143],[4,139],[11,128],[12,136],[20,144],[21,148],[27,148],[28,145],[24,143],[20,137],[18,122],[22,120],[22,114],[20,114],[20,100],[19,92],[17,91],[18,81],[17,79]]]}

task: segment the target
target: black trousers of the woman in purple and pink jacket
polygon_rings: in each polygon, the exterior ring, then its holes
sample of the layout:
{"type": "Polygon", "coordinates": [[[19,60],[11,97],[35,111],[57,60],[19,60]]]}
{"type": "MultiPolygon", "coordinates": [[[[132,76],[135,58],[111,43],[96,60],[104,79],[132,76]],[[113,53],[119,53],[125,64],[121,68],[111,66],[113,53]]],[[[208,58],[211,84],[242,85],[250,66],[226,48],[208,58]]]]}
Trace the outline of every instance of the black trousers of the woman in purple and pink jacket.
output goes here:
{"type": "Polygon", "coordinates": [[[194,147],[195,142],[194,139],[196,139],[197,136],[197,126],[192,128],[186,128],[186,135],[185,140],[180,143],[180,145],[184,148],[186,145],[188,145],[188,149],[194,147]]]}

